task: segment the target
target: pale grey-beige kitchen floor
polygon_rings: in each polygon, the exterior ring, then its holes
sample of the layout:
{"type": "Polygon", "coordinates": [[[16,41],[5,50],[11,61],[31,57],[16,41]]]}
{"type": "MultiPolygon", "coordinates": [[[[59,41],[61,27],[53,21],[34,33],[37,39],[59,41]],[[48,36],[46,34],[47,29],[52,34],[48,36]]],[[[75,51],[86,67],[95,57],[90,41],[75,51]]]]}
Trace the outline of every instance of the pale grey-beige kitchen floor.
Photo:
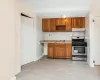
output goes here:
{"type": "Polygon", "coordinates": [[[100,67],[86,62],[43,58],[22,67],[17,80],[100,80],[100,67]]]}

